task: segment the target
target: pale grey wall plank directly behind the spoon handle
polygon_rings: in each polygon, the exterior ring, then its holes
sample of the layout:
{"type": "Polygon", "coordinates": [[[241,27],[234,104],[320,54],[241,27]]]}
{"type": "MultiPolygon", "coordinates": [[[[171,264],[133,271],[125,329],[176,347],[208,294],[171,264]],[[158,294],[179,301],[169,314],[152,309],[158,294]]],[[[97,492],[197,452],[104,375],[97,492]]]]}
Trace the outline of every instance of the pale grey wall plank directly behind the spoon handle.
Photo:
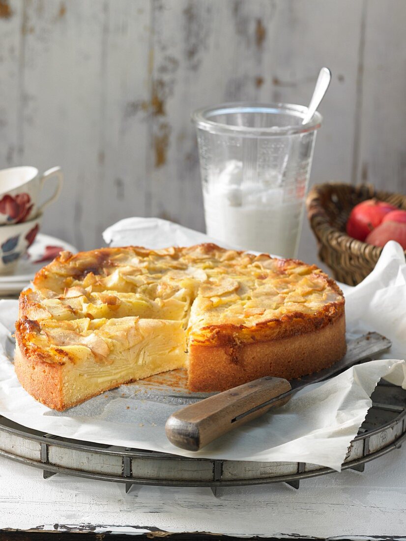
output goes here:
{"type": "Polygon", "coordinates": [[[272,99],[308,105],[318,71],[332,71],[320,112],[311,183],[351,180],[362,2],[277,3],[272,99]]]}

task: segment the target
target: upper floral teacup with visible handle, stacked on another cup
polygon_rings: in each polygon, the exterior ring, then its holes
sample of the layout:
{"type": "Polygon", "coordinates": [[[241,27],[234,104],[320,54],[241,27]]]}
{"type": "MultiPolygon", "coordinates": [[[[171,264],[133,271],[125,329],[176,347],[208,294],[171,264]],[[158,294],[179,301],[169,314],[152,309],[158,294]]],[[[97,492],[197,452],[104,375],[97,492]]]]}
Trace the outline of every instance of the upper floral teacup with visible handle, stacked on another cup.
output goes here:
{"type": "Polygon", "coordinates": [[[35,167],[11,167],[0,170],[0,226],[22,223],[42,214],[45,207],[55,201],[61,193],[63,175],[60,167],[53,167],[38,174],[35,167]],[[57,177],[57,187],[41,205],[39,193],[46,180],[57,177]]]}

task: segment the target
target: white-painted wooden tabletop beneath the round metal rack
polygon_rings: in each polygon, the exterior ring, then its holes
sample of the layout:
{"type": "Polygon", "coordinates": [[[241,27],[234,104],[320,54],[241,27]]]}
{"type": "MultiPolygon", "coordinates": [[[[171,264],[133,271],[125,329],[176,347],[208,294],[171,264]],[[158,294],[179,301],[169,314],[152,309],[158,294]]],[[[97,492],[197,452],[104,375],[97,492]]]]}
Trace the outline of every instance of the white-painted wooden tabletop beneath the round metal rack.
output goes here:
{"type": "Polygon", "coordinates": [[[406,534],[405,465],[403,447],[364,473],[303,480],[298,491],[262,485],[214,497],[210,489],[142,486],[125,494],[123,484],[59,474],[44,480],[41,470],[0,458],[0,530],[398,539],[406,534]]]}

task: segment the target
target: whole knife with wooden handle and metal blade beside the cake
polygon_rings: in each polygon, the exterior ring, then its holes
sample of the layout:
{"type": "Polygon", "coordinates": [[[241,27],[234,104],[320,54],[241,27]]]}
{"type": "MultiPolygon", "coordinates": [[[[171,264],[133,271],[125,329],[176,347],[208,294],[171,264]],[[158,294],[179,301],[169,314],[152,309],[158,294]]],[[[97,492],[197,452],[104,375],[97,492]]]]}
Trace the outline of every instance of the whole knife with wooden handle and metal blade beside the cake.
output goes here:
{"type": "Polygon", "coordinates": [[[329,368],[288,381],[265,376],[183,407],[165,425],[169,441],[188,451],[199,451],[219,436],[259,417],[271,407],[286,404],[305,386],[324,381],[361,361],[387,351],[391,341],[368,333],[347,342],[347,353],[329,368]]]}

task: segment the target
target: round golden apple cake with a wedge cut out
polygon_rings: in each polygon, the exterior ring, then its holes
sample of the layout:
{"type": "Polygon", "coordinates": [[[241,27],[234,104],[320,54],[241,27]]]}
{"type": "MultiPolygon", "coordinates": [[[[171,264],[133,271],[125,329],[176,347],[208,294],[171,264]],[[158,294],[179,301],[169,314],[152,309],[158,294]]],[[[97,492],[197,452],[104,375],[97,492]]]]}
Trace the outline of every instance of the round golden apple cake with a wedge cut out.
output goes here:
{"type": "Polygon", "coordinates": [[[341,359],[344,298],[314,265],[212,244],[62,252],[21,293],[16,342],[19,381],[56,410],[181,367],[223,391],[341,359]]]}

